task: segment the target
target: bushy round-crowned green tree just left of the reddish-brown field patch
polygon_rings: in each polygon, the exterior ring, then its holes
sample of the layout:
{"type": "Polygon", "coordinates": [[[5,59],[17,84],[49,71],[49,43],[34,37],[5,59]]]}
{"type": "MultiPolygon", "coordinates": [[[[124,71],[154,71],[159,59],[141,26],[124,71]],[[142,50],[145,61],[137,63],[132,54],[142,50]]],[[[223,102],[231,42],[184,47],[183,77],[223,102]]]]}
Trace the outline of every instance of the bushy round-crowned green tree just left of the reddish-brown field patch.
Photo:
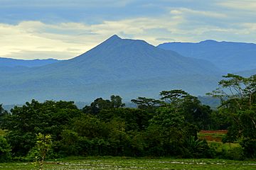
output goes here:
{"type": "Polygon", "coordinates": [[[146,141],[150,154],[187,157],[186,137],[196,135],[197,130],[186,122],[183,115],[176,113],[174,108],[162,107],[156,110],[149,123],[146,141]]]}

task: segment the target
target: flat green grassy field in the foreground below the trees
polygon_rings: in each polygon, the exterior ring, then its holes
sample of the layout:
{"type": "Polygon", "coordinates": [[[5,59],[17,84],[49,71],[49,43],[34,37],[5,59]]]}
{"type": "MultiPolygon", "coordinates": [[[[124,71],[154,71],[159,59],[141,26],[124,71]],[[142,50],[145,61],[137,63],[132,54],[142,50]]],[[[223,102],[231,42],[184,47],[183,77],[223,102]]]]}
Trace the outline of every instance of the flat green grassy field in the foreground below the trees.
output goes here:
{"type": "MultiPolygon", "coordinates": [[[[0,164],[1,170],[36,169],[32,163],[0,164]]],[[[223,159],[83,158],[46,162],[43,169],[256,169],[256,162],[223,159]]]]}

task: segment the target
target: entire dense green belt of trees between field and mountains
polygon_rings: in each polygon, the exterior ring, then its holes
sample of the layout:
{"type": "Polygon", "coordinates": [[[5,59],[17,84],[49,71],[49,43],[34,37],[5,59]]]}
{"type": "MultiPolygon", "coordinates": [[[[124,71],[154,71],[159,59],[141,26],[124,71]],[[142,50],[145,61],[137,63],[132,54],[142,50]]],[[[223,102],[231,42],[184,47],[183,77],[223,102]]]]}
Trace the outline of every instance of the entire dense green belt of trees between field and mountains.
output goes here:
{"type": "Polygon", "coordinates": [[[114,95],[82,109],[73,101],[32,100],[10,113],[0,106],[0,162],[31,161],[40,153],[48,158],[255,158],[256,75],[228,74],[208,95],[220,98],[218,111],[181,89],[161,91],[158,99],[134,98],[137,108],[125,108],[114,95]],[[223,129],[228,129],[223,142],[240,147],[219,152],[198,138],[200,130],[223,129]]]}

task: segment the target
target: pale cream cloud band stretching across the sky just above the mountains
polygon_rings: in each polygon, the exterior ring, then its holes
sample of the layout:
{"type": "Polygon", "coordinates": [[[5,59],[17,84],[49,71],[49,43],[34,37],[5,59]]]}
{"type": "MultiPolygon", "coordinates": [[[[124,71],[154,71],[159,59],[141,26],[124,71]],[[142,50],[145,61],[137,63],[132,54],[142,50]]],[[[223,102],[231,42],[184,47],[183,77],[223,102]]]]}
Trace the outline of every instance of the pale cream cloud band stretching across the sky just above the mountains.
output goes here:
{"type": "Polygon", "coordinates": [[[146,40],[153,45],[206,39],[255,42],[256,22],[223,22],[230,17],[215,11],[171,8],[164,16],[109,20],[92,25],[41,21],[22,21],[16,25],[0,23],[0,57],[68,59],[114,34],[146,40]]]}

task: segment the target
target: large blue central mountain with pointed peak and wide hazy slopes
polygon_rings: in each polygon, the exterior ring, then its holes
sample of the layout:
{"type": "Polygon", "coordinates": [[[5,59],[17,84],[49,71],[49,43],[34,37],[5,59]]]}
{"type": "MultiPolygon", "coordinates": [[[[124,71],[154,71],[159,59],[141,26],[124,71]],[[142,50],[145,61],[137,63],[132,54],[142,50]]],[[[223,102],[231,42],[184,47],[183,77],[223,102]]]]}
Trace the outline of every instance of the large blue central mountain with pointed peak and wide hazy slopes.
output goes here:
{"type": "Polygon", "coordinates": [[[112,94],[129,101],[137,96],[158,97],[159,91],[170,89],[203,95],[215,89],[221,74],[206,60],[113,35],[73,59],[0,74],[0,103],[31,98],[90,102],[112,94]]]}

